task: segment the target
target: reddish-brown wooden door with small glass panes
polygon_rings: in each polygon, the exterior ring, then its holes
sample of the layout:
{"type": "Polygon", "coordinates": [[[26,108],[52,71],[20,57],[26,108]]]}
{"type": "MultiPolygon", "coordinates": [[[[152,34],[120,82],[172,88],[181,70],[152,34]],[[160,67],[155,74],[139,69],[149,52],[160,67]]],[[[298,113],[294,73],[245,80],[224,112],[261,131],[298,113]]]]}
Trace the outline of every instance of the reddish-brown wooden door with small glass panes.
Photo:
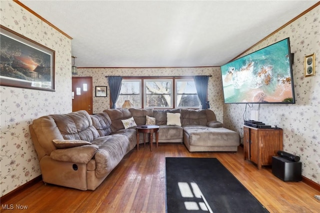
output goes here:
{"type": "Polygon", "coordinates": [[[92,77],[72,77],[72,111],[92,114],[92,77]]]}

